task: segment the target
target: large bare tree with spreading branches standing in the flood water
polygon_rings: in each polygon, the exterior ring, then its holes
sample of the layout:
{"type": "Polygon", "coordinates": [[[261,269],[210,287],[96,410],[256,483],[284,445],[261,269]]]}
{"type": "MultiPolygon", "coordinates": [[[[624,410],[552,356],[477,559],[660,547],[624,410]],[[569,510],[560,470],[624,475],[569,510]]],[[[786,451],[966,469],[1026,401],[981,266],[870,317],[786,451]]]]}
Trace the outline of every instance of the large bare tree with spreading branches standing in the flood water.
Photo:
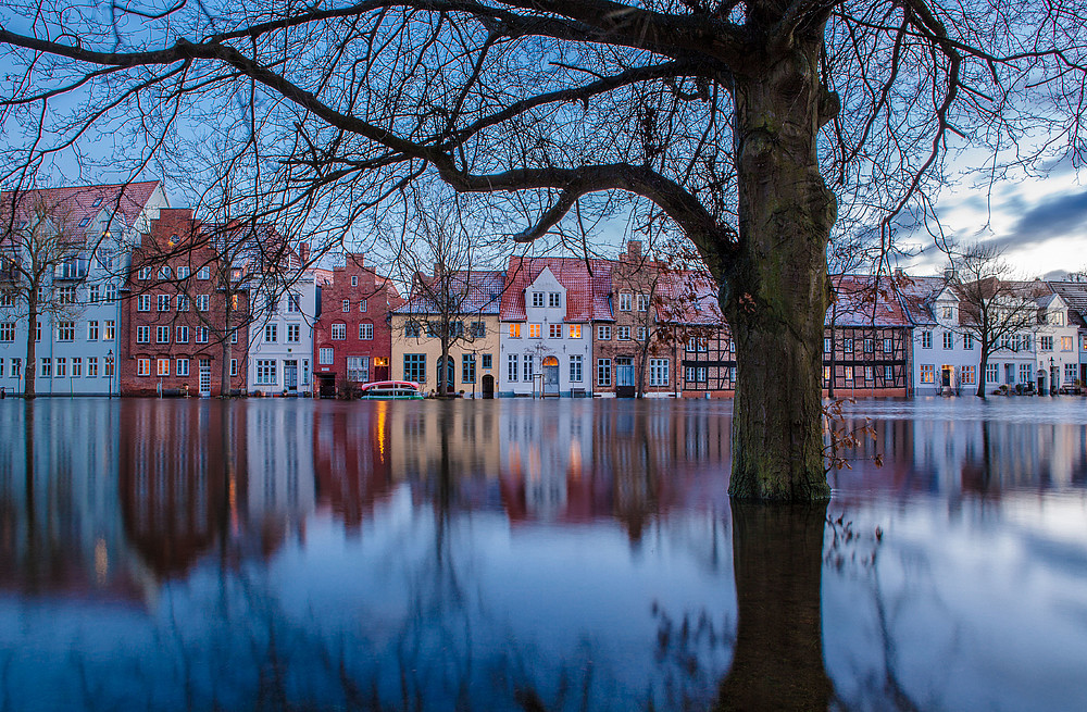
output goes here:
{"type": "Polygon", "coordinates": [[[737,497],[829,496],[820,346],[836,221],[877,225],[888,247],[904,210],[933,217],[952,139],[996,180],[1058,147],[1078,160],[1087,133],[1087,29],[1059,0],[67,8],[0,15],[22,67],[0,107],[26,138],[4,152],[9,182],[99,125],[137,134],[139,164],[199,121],[236,137],[216,160],[249,171],[253,196],[282,193],[291,221],[350,225],[437,178],[483,197],[480,224],[516,241],[571,211],[683,233],[736,339],[737,497]],[[87,101],[50,112],[64,93],[87,101]]]}

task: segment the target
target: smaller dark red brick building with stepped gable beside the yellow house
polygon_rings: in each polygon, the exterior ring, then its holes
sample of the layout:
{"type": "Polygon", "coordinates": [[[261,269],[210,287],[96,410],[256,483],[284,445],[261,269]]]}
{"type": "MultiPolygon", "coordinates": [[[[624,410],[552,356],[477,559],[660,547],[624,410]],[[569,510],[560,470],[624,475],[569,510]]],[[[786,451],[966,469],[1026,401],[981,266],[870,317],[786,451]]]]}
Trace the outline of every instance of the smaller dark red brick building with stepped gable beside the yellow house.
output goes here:
{"type": "Polygon", "coordinates": [[[390,377],[392,333],[389,312],[403,303],[388,277],[348,253],[342,266],[318,285],[313,324],[313,375],[318,396],[347,396],[371,380],[390,377]]]}

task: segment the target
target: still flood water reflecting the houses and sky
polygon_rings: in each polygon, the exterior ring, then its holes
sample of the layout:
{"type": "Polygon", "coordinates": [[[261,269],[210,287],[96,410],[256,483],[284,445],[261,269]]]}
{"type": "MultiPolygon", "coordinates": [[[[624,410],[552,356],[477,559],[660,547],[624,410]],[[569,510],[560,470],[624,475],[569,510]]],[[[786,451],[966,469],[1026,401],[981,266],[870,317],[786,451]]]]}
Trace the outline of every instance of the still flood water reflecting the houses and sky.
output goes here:
{"type": "Polygon", "coordinates": [[[0,709],[1085,709],[1087,400],[730,408],[0,401],[0,709]]]}

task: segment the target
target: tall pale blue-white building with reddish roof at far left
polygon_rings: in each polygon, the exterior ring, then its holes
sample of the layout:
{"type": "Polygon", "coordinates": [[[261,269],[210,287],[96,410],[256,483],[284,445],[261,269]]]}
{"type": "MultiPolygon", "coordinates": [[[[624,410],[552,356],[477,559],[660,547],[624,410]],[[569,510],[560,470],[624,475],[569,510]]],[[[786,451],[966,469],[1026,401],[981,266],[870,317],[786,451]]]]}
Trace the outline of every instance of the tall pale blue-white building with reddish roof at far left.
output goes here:
{"type": "MultiPolygon", "coordinates": [[[[11,209],[12,200],[9,192],[0,195],[3,210],[11,209]]],[[[26,205],[35,201],[58,211],[72,239],[71,254],[42,285],[47,308],[34,325],[38,335],[34,364],[26,358],[30,325],[25,304],[21,308],[11,293],[0,295],[0,387],[9,394],[23,392],[25,370],[35,367],[38,396],[116,395],[123,350],[120,295],[129,249],[168,207],[165,191],[158,180],[25,191],[16,200],[16,229],[26,222],[26,205]]],[[[5,259],[25,258],[18,254],[17,242],[0,249],[5,259]]],[[[14,271],[0,275],[14,277],[14,271]]],[[[3,285],[0,291],[7,291],[3,285]]]]}

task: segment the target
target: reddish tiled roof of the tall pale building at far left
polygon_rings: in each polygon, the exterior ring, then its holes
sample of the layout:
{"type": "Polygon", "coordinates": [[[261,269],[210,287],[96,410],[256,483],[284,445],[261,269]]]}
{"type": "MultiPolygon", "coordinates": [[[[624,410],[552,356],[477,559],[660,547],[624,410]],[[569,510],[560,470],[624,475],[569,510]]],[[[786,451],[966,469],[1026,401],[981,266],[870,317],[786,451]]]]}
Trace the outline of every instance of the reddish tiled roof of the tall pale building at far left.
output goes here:
{"type": "Polygon", "coordinates": [[[87,233],[93,227],[95,217],[102,211],[120,214],[127,226],[132,226],[143,209],[160,180],[142,183],[121,183],[103,186],[71,186],[67,188],[37,188],[22,190],[18,193],[3,191],[0,193],[0,211],[5,211],[15,195],[17,202],[16,220],[24,217],[38,201],[49,207],[63,208],[63,218],[68,223],[74,240],[86,240],[87,233]]]}

